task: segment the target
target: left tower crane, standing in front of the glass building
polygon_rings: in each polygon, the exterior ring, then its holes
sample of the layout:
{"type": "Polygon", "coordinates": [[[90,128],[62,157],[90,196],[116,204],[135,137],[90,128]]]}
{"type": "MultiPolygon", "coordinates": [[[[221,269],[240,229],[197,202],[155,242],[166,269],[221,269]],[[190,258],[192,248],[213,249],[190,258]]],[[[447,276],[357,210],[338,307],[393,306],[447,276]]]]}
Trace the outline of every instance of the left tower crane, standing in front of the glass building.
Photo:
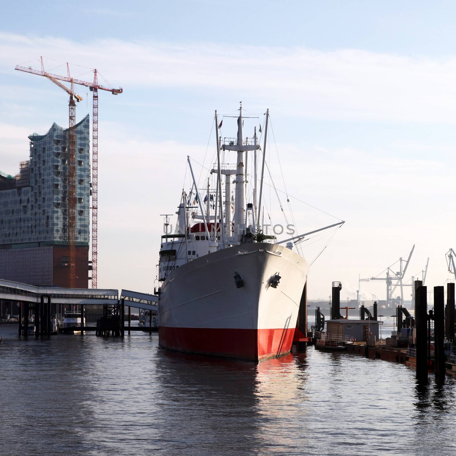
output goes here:
{"type": "MultiPolygon", "coordinates": [[[[16,67],[16,70],[26,71],[32,73],[31,69],[16,67]]],[[[38,73],[34,73],[38,74],[38,73]]],[[[76,103],[80,102],[83,98],[74,92],[73,78],[70,75],[70,67],[67,63],[67,81],[71,83],[71,87],[67,88],[66,85],[62,84],[54,77],[54,75],[44,71],[43,59],[41,58],[41,73],[40,76],[44,76],[56,84],[58,87],[63,89],[68,95],[70,95],[70,101],[68,103],[68,214],[64,214],[63,226],[66,230],[62,230],[64,234],[64,241],[68,242],[68,248],[70,250],[69,255],[69,285],[70,288],[76,286],[76,132],[74,125],[76,123],[76,103]]]]}

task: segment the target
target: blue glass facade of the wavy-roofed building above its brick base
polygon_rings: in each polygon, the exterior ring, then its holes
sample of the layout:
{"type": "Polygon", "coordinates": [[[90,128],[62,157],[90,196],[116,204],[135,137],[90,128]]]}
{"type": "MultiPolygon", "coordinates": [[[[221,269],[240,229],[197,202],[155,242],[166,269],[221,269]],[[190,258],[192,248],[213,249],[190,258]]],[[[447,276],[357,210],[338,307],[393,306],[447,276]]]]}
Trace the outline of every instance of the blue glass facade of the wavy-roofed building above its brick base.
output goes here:
{"type": "MultiPolygon", "coordinates": [[[[89,116],[76,124],[76,245],[89,244],[89,116]]],[[[33,134],[30,157],[0,179],[0,248],[68,243],[68,129],[33,134]]]]}

